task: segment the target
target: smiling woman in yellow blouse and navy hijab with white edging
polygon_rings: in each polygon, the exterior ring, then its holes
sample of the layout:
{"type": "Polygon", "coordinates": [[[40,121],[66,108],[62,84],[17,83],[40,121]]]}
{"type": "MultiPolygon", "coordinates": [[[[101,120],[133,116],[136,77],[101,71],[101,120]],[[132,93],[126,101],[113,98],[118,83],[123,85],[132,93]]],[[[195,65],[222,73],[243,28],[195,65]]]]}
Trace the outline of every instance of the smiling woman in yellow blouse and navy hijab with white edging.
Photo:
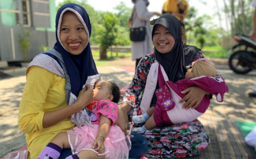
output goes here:
{"type": "Polygon", "coordinates": [[[54,48],[37,55],[27,68],[18,126],[27,134],[28,159],[37,159],[56,134],[75,124],[91,124],[83,109],[93,92],[85,84],[93,85],[101,77],[92,58],[90,35],[86,10],[76,4],[62,6],[56,15],[54,48]]]}

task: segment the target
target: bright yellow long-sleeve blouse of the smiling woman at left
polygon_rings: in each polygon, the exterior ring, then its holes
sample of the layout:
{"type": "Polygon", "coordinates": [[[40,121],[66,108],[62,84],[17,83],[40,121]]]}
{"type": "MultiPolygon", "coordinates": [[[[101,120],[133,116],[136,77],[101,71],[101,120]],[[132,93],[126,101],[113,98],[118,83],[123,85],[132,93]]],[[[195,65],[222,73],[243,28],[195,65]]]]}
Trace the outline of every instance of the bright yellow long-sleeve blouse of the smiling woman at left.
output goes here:
{"type": "Polygon", "coordinates": [[[68,117],[54,126],[43,128],[46,111],[67,107],[64,90],[66,79],[37,66],[29,67],[27,72],[27,83],[19,106],[18,126],[27,134],[29,159],[37,159],[56,134],[71,130],[75,125],[68,117]]]}

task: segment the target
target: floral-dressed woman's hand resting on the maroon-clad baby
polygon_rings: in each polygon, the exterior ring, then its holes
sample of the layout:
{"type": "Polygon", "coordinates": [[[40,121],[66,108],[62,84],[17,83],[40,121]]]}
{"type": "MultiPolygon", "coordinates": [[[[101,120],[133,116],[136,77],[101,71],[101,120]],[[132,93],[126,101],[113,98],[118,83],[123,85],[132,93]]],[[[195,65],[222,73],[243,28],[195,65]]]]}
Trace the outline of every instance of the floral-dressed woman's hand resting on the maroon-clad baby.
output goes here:
{"type": "Polygon", "coordinates": [[[182,100],[179,101],[179,103],[182,103],[183,101],[187,100],[182,109],[190,109],[191,107],[192,109],[195,109],[200,104],[207,92],[198,86],[193,86],[185,89],[181,93],[188,93],[182,100]]]}

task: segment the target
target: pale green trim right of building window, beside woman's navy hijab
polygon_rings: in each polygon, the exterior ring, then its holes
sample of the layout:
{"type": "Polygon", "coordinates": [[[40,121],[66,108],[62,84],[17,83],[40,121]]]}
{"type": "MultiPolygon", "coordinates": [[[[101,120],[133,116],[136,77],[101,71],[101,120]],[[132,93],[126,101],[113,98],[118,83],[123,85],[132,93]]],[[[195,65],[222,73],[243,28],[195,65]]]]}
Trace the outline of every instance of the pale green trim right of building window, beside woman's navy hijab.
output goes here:
{"type": "Polygon", "coordinates": [[[52,31],[55,32],[55,17],[56,17],[56,8],[55,8],[55,0],[49,0],[50,5],[50,19],[51,19],[51,27],[50,28],[36,28],[38,31],[52,31]]]}

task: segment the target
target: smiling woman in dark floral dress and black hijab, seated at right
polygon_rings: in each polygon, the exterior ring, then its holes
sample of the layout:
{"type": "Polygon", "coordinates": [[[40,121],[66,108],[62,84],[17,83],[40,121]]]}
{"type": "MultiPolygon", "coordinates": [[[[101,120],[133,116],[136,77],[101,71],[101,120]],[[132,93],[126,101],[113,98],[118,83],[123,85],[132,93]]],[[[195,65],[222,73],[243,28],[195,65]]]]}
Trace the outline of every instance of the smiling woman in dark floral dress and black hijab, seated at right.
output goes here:
{"type": "MultiPolygon", "coordinates": [[[[155,21],[152,32],[155,51],[144,56],[139,62],[119,110],[120,114],[128,113],[129,121],[133,116],[142,114],[140,105],[143,105],[141,101],[146,87],[147,75],[153,63],[160,63],[164,67],[169,80],[176,82],[184,78],[187,66],[197,59],[204,58],[200,49],[184,45],[181,36],[181,25],[176,17],[163,15],[155,21]]],[[[155,78],[157,79],[157,74],[155,78]]],[[[159,89],[158,84],[152,87],[155,87],[155,90],[159,89]]],[[[212,96],[198,86],[193,86],[183,92],[187,93],[181,100],[181,102],[186,101],[184,104],[185,109],[196,108],[205,95],[209,99],[212,96]]],[[[146,97],[146,100],[151,100],[150,107],[155,106],[155,93],[153,97],[146,97]]],[[[125,119],[123,123],[118,123],[122,129],[125,128],[125,123],[127,122],[125,119]]],[[[135,126],[141,125],[137,124],[135,126]]],[[[190,123],[163,125],[138,133],[143,134],[147,139],[148,149],[144,156],[148,158],[184,158],[193,156],[201,153],[210,142],[207,132],[198,120],[190,123]]]]}

